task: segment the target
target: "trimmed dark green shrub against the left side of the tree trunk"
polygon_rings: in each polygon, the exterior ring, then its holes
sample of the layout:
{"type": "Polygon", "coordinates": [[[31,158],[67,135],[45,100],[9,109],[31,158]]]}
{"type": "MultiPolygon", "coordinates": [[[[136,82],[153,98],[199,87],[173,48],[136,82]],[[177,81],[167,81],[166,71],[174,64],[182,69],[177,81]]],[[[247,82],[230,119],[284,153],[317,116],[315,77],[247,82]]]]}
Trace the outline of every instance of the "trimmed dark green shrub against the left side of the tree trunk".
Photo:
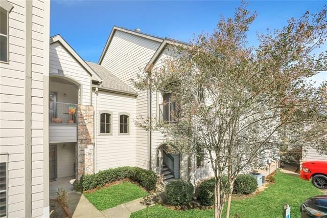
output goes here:
{"type": "MultiPolygon", "coordinates": [[[[227,178],[223,177],[223,184],[227,183],[227,178]]],[[[228,187],[225,186],[225,191],[228,187]]],[[[199,185],[199,194],[197,200],[204,206],[215,204],[215,178],[205,180],[199,185]]]]}

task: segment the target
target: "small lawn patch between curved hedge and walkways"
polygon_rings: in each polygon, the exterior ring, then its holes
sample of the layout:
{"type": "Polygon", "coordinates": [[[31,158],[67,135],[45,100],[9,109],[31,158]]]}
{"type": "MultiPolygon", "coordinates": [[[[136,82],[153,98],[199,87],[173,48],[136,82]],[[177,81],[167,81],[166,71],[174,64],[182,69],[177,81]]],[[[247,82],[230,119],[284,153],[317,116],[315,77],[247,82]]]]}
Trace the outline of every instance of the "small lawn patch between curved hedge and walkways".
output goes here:
{"type": "Polygon", "coordinates": [[[85,198],[98,210],[106,210],[126,202],[142,198],[149,193],[138,185],[130,182],[123,182],[107,188],[99,189],[92,193],[84,193],[85,198]]]}

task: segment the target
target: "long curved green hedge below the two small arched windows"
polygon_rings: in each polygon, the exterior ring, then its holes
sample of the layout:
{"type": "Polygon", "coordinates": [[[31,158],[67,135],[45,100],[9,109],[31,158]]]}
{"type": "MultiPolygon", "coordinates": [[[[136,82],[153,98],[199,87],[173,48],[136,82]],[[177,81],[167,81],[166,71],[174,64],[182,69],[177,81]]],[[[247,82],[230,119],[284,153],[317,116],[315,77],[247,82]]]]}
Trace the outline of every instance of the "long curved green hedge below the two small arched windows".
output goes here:
{"type": "Polygon", "coordinates": [[[154,190],[157,182],[157,176],[155,175],[155,172],[151,170],[141,169],[139,167],[124,166],[102,170],[92,175],[85,175],[81,183],[83,190],[85,191],[124,179],[137,182],[147,190],[154,190]]]}

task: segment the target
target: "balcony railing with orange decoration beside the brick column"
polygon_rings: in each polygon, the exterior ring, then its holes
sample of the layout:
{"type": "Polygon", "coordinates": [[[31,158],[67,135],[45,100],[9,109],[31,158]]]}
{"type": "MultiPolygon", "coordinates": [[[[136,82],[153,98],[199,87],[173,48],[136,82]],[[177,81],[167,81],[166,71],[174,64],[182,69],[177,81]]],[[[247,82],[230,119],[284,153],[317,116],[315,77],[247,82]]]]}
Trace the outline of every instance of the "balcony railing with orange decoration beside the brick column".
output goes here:
{"type": "Polygon", "coordinates": [[[77,104],[49,102],[49,122],[77,123],[77,104]]]}

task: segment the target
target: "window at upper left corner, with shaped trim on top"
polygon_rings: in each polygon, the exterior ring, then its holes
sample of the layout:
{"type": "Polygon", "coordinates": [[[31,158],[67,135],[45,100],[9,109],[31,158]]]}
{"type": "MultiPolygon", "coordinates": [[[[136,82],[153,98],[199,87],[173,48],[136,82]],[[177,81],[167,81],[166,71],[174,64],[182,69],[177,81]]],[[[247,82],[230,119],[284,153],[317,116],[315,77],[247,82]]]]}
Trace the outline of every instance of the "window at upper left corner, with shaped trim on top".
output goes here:
{"type": "Polygon", "coordinates": [[[9,12],[13,6],[0,1],[0,62],[9,62],[9,12]]]}

